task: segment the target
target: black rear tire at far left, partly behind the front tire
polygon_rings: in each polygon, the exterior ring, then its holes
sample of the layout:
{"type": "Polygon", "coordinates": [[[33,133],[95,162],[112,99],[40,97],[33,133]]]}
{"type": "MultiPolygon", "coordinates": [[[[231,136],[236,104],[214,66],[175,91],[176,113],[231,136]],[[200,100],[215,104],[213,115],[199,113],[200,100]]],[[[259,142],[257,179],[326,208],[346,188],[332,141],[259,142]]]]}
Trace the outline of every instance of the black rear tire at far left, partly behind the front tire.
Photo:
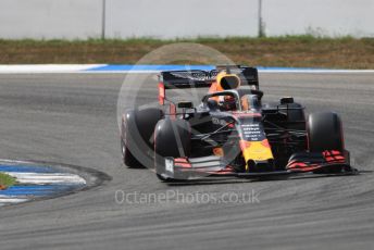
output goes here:
{"type": "Polygon", "coordinates": [[[163,116],[162,110],[155,108],[125,112],[121,127],[121,149],[125,165],[153,165],[153,132],[163,116]]]}

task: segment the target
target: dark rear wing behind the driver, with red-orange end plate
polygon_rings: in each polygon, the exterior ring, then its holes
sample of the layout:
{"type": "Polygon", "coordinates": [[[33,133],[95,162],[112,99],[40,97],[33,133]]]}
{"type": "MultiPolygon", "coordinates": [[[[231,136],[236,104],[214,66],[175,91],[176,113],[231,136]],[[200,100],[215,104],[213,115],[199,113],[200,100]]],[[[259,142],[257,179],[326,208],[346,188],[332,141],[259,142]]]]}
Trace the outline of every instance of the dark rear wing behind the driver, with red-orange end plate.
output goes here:
{"type": "Polygon", "coordinates": [[[259,73],[255,67],[229,65],[216,66],[212,71],[165,71],[159,75],[159,102],[164,104],[165,89],[209,88],[222,71],[236,74],[242,85],[249,85],[259,90],[259,73]]]}

